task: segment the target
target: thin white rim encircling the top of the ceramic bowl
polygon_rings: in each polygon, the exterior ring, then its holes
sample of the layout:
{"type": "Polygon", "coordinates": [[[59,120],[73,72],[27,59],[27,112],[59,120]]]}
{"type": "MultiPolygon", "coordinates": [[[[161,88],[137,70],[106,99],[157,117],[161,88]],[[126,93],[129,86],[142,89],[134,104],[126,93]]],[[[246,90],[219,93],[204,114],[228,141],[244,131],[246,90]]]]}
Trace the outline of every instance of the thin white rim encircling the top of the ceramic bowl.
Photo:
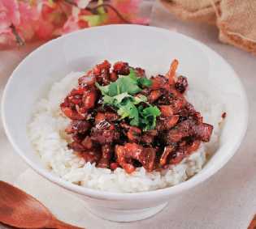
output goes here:
{"type": "MultiPolygon", "coordinates": [[[[179,32],[173,32],[173,31],[169,31],[167,29],[164,28],[157,28],[157,27],[152,27],[152,26],[141,26],[141,25],[131,25],[131,24],[115,24],[115,25],[105,25],[105,26],[100,26],[100,27],[96,27],[96,28],[86,28],[86,29],[82,29],[76,32],[72,32],[69,33],[67,35],[64,36],[60,36],[59,38],[56,38],[54,40],[50,40],[49,42],[46,42],[46,44],[41,45],[39,48],[33,50],[32,53],[29,53],[27,57],[25,57],[18,66],[16,66],[15,70],[12,72],[11,77],[8,79],[8,82],[6,84],[6,87],[4,88],[3,94],[2,94],[2,123],[3,123],[3,128],[5,129],[5,132],[7,134],[7,138],[9,140],[9,142],[11,142],[11,145],[13,146],[15,152],[21,156],[21,158],[24,159],[24,161],[26,163],[28,163],[28,166],[30,168],[33,168],[33,170],[35,172],[37,172],[39,175],[45,177],[47,180],[50,180],[51,182],[53,182],[54,184],[58,184],[59,186],[62,186],[65,189],[68,189],[72,192],[81,194],[81,195],[85,195],[85,196],[89,196],[89,197],[94,197],[94,198],[98,198],[98,199],[109,199],[109,200],[130,200],[130,199],[135,199],[135,200],[139,200],[139,199],[149,199],[151,197],[155,197],[156,195],[159,195],[159,197],[163,197],[163,196],[171,196],[172,194],[176,194],[176,193],[180,193],[183,192],[184,190],[190,189],[193,186],[200,184],[201,182],[203,182],[204,180],[210,178],[210,176],[214,175],[216,172],[219,171],[220,168],[222,168],[229,159],[232,158],[232,156],[236,153],[237,149],[239,148],[239,146],[241,145],[241,142],[243,140],[243,138],[245,137],[245,133],[246,133],[246,129],[248,126],[248,119],[249,119],[249,106],[248,106],[248,100],[247,100],[247,96],[245,93],[245,88],[243,87],[240,78],[237,76],[236,72],[232,69],[232,66],[230,66],[228,64],[227,61],[225,61],[223,59],[223,57],[221,57],[219,55],[219,53],[216,53],[214,50],[210,49],[208,46],[202,44],[202,42],[198,41],[198,40],[194,40],[193,38],[189,37],[189,36],[185,36],[183,34],[180,34],[179,32]],[[241,120],[242,123],[242,129],[241,132],[238,133],[239,135],[239,140],[237,142],[234,142],[234,144],[232,146],[229,147],[228,149],[228,154],[223,155],[223,158],[221,161],[219,161],[218,166],[215,167],[211,167],[208,168],[208,171],[206,173],[202,173],[204,171],[204,169],[202,168],[202,171],[199,172],[196,176],[191,177],[189,180],[185,180],[184,182],[181,182],[180,184],[176,184],[174,186],[171,187],[167,187],[164,189],[156,189],[156,190],[150,190],[150,191],[143,191],[143,192],[138,192],[138,193],[115,193],[115,192],[107,192],[107,191],[102,191],[102,190],[98,190],[98,189],[90,189],[90,188],[86,188],[86,187],[81,187],[77,184],[72,184],[66,180],[63,180],[62,178],[58,177],[58,176],[54,176],[52,175],[50,172],[48,172],[45,168],[38,168],[37,163],[34,163],[32,160],[28,159],[26,157],[26,155],[23,153],[23,151],[20,149],[20,146],[15,142],[15,139],[12,137],[11,131],[7,126],[7,117],[6,117],[6,112],[5,112],[5,104],[7,104],[7,92],[9,91],[9,87],[11,85],[11,82],[14,80],[15,78],[15,74],[19,71],[20,66],[24,65],[25,61],[28,58],[33,57],[33,53],[44,49],[47,45],[52,45],[55,42],[59,42],[59,40],[64,40],[66,39],[66,37],[70,37],[70,36],[77,36],[80,33],[83,32],[90,32],[93,30],[104,30],[105,28],[120,28],[120,27],[140,27],[143,29],[149,29],[152,30],[154,32],[168,32],[168,33],[174,33],[178,36],[182,36],[184,37],[184,39],[189,40],[193,43],[193,45],[199,45],[201,47],[203,47],[204,49],[206,49],[208,52],[210,53],[215,53],[215,55],[220,58],[223,62],[225,62],[228,67],[230,68],[230,70],[232,70],[232,77],[236,78],[236,82],[239,84],[239,86],[241,87],[241,98],[244,102],[244,111],[243,111],[243,119],[241,120]]],[[[218,148],[218,150],[215,152],[217,153],[219,150],[221,149],[218,148]]]]}

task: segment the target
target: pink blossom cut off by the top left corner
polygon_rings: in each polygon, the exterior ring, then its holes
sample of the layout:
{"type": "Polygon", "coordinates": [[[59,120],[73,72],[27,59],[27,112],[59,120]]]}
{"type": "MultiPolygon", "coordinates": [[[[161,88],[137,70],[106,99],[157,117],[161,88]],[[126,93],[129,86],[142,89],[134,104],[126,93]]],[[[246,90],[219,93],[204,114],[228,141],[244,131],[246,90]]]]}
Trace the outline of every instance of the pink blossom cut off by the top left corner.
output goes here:
{"type": "Polygon", "coordinates": [[[16,0],[0,0],[0,33],[11,24],[20,23],[19,4],[16,0]]]}

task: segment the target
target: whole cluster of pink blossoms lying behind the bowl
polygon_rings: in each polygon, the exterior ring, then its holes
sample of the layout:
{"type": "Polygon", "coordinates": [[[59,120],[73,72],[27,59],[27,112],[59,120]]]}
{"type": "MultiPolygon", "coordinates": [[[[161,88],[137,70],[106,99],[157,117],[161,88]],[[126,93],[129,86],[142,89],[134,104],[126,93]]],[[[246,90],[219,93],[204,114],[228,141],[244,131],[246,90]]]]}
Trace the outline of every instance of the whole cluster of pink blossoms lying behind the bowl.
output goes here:
{"type": "MultiPolygon", "coordinates": [[[[142,23],[148,19],[137,17],[141,0],[110,0],[107,11],[86,9],[90,0],[0,0],[0,48],[23,41],[49,40],[80,28],[109,23],[142,23]],[[120,15],[116,14],[119,11],[120,15]],[[122,19],[122,16],[124,19],[122,19]]],[[[98,5],[103,0],[98,0],[98,5]]],[[[93,8],[93,6],[90,6],[93,8]]]]}

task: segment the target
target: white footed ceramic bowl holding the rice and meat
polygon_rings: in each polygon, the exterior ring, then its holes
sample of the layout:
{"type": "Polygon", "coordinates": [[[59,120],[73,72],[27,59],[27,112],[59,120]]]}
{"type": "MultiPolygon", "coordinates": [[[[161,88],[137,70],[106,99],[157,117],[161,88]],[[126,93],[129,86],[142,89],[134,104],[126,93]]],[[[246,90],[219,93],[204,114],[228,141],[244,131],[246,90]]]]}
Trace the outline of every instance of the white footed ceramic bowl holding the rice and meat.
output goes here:
{"type": "Polygon", "coordinates": [[[74,32],[28,55],[15,69],[2,98],[2,118],[15,151],[41,176],[84,198],[94,214],[114,221],[133,221],[162,210],[167,201],[212,176],[234,155],[245,135],[247,100],[239,78],[217,53],[176,32],[137,25],[111,25],[74,32]],[[228,117],[219,149],[196,176],[167,189],[144,193],[107,193],[70,184],[43,168],[28,140],[26,125],[33,104],[50,84],[69,72],[87,70],[104,59],[128,61],[151,73],[164,73],[173,58],[189,85],[220,96],[228,117]]]}

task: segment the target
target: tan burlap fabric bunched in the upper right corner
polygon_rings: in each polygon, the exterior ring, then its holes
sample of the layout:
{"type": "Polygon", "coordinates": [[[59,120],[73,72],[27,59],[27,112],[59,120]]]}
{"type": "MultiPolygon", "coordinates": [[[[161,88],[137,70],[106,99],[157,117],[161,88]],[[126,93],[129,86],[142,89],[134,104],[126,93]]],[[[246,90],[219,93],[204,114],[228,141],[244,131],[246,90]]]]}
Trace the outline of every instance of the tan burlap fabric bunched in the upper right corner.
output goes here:
{"type": "Polygon", "coordinates": [[[256,54],[256,0],[160,0],[179,19],[215,24],[219,40],[256,54]]]}

